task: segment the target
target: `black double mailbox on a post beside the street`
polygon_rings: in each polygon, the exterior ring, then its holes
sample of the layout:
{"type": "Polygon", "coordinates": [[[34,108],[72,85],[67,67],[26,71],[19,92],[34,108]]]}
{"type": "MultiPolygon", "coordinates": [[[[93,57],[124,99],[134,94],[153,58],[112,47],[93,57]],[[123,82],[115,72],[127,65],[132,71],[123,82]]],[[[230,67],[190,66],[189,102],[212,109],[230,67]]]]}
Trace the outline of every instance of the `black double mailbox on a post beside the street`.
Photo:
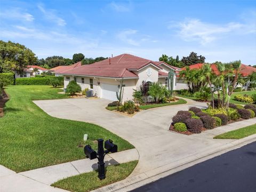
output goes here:
{"type": "Polygon", "coordinates": [[[90,158],[90,160],[98,158],[98,178],[100,180],[105,179],[105,162],[104,157],[107,153],[116,153],[117,145],[112,140],[105,141],[105,149],[103,148],[103,139],[98,139],[98,152],[94,151],[90,145],[84,147],[84,154],[90,158]]]}

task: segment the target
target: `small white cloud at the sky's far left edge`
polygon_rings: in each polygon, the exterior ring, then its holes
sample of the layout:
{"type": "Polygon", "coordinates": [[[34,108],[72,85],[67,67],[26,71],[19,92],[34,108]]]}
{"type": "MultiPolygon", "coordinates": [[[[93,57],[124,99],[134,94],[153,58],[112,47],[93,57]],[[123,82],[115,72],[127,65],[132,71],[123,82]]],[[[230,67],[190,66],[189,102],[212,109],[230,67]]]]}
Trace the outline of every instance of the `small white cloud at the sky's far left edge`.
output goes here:
{"type": "Polygon", "coordinates": [[[28,12],[22,11],[19,8],[12,7],[10,9],[1,10],[0,17],[5,19],[18,19],[23,21],[33,21],[35,18],[28,12]]]}

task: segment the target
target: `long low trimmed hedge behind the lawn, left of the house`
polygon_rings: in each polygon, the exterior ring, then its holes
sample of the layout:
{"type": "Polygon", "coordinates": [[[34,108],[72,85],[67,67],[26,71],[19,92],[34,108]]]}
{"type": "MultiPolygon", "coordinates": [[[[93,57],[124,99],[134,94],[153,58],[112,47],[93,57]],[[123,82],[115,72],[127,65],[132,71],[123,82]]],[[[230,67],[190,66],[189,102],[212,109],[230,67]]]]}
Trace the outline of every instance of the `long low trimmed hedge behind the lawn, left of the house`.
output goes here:
{"type": "Polygon", "coordinates": [[[15,85],[51,85],[51,79],[55,78],[63,83],[63,77],[28,77],[28,78],[17,78],[15,85]]]}

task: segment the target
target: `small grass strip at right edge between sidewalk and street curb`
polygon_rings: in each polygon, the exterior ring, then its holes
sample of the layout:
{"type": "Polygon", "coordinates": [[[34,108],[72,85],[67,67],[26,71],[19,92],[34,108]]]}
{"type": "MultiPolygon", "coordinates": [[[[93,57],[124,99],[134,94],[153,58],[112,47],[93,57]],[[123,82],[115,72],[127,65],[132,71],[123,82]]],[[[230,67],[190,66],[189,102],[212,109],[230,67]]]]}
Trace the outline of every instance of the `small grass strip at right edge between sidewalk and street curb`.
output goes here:
{"type": "Polygon", "coordinates": [[[214,139],[241,139],[252,134],[256,134],[256,124],[217,135],[214,139]]]}

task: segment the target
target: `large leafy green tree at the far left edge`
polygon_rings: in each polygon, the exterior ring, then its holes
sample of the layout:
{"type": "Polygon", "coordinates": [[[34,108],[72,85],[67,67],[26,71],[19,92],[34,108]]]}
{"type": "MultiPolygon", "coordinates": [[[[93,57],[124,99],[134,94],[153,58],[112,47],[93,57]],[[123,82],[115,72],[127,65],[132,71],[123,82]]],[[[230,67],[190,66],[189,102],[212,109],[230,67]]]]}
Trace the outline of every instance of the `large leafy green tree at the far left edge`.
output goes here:
{"type": "Polygon", "coordinates": [[[0,41],[0,73],[13,70],[22,73],[28,65],[33,65],[36,61],[35,53],[26,46],[11,41],[0,41]]]}

